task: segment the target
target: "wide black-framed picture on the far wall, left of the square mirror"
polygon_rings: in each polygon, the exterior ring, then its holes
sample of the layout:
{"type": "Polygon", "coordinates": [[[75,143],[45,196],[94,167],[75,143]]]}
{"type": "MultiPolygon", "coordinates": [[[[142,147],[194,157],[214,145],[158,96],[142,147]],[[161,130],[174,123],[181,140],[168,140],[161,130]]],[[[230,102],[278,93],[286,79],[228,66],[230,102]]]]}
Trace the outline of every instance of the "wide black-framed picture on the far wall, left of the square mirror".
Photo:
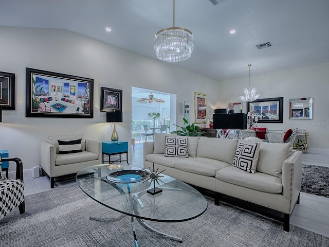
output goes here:
{"type": "Polygon", "coordinates": [[[247,102],[247,112],[257,116],[259,123],[283,123],[283,97],[247,102]]]}

